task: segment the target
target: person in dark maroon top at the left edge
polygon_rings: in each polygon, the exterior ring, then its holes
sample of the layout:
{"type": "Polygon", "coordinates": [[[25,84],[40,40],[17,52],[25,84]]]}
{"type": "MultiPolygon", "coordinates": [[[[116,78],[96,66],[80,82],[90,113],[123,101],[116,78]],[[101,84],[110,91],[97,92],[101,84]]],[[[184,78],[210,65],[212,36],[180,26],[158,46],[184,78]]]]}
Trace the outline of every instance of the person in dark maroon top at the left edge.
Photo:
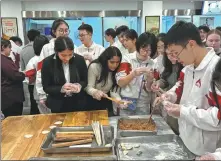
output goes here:
{"type": "Polygon", "coordinates": [[[1,110],[5,117],[22,115],[23,80],[25,74],[18,71],[16,64],[9,57],[11,43],[1,40],[1,110]]]}

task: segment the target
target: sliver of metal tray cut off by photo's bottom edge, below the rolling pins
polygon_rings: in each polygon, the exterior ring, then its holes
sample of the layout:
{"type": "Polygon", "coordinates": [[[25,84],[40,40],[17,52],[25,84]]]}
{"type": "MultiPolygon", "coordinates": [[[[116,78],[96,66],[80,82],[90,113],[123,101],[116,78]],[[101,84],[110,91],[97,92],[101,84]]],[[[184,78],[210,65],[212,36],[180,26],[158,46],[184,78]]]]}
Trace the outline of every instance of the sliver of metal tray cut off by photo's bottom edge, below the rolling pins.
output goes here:
{"type": "Polygon", "coordinates": [[[117,156],[113,155],[113,156],[104,156],[104,157],[62,157],[62,158],[50,158],[50,157],[33,157],[30,158],[29,160],[110,160],[110,161],[114,161],[117,160],[117,156]]]}

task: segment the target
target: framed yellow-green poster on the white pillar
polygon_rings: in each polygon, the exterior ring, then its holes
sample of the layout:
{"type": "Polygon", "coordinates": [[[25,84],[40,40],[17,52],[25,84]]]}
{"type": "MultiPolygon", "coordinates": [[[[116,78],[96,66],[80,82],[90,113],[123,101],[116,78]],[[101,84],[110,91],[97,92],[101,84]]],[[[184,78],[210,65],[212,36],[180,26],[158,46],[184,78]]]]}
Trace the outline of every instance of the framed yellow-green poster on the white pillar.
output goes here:
{"type": "Polygon", "coordinates": [[[160,32],[160,16],[146,16],[145,31],[157,36],[160,32]]]}

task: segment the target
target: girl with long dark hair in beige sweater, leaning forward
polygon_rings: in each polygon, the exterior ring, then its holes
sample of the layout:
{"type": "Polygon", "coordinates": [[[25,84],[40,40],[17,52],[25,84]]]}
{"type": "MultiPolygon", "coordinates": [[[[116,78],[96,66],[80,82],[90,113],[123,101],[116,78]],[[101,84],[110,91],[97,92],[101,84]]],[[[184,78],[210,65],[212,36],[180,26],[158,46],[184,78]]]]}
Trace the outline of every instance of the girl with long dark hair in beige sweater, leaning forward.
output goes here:
{"type": "Polygon", "coordinates": [[[94,110],[108,110],[109,117],[116,114],[116,109],[113,111],[112,102],[107,96],[116,95],[118,85],[115,79],[115,74],[119,68],[122,59],[121,52],[116,47],[108,47],[98,57],[91,62],[88,68],[88,85],[85,89],[90,95],[87,100],[87,106],[93,107],[94,110]]]}

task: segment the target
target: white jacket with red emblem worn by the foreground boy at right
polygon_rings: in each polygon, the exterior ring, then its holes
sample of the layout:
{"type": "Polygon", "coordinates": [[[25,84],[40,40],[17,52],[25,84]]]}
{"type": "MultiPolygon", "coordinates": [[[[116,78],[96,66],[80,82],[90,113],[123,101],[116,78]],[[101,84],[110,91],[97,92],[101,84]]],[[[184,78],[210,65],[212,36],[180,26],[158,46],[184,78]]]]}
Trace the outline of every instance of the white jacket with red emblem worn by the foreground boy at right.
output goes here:
{"type": "Polygon", "coordinates": [[[178,100],[181,98],[178,119],[180,137],[186,147],[196,155],[214,152],[221,147],[218,108],[211,106],[208,101],[211,76],[219,57],[212,48],[208,50],[196,69],[193,65],[184,67],[180,83],[169,91],[178,100]]]}

